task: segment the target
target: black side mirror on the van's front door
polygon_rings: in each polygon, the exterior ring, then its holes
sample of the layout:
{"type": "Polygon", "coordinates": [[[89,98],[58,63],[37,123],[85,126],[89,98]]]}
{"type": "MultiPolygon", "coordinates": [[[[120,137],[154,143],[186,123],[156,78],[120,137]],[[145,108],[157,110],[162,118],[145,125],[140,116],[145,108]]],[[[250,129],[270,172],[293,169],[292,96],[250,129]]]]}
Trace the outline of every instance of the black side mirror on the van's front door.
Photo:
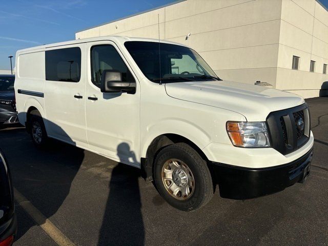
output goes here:
{"type": "MultiPolygon", "coordinates": [[[[132,77],[132,76],[131,76],[132,77]]],[[[122,81],[122,73],[118,70],[104,70],[101,75],[100,91],[108,93],[128,92],[135,93],[135,81],[122,81]]]]}

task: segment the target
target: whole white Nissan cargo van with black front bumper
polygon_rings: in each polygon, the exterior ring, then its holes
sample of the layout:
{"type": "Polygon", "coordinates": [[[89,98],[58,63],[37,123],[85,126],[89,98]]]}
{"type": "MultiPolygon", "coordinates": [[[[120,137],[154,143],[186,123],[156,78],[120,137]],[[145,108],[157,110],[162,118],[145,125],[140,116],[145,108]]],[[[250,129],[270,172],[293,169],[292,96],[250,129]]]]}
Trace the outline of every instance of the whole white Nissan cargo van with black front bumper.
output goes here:
{"type": "Polygon", "coordinates": [[[217,77],[191,48],[105,36],[16,54],[19,122],[138,167],[173,207],[255,198],[303,182],[313,134],[303,98],[217,77]]]}

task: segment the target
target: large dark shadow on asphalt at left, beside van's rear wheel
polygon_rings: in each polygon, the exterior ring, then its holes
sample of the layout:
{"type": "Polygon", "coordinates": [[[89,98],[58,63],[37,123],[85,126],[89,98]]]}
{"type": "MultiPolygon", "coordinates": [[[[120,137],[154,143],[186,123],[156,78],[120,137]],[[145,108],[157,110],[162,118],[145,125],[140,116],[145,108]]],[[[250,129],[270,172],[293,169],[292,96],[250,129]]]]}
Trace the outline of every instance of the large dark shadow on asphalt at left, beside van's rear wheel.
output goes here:
{"type": "MultiPolygon", "coordinates": [[[[84,150],[56,140],[51,140],[45,150],[36,149],[24,128],[8,128],[0,131],[0,136],[12,169],[14,187],[47,218],[51,217],[70,192],[84,159],[84,150]]],[[[17,219],[15,240],[35,226],[34,221],[26,223],[20,221],[19,216],[17,219]]]]}

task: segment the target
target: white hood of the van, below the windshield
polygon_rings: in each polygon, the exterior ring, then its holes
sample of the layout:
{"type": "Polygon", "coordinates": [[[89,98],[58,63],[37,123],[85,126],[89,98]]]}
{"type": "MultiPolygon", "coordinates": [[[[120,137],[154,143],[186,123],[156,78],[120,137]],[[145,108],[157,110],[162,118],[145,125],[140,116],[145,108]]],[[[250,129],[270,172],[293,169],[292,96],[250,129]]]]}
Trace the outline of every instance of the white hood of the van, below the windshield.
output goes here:
{"type": "Polygon", "coordinates": [[[169,96],[237,112],[248,121],[264,121],[270,112],[304,104],[296,94],[232,81],[191,81],[165,84],[169,96]]]}

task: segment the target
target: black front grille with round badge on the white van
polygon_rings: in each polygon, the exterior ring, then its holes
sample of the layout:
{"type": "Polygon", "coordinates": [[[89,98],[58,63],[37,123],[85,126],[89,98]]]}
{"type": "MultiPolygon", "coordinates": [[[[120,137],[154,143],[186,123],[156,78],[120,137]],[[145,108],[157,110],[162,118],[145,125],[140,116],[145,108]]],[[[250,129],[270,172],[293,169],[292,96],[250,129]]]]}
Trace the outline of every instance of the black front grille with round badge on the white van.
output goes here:
{"type": "Polygon", "coordinates": [[[308,105],[275,111],[267,117],[272,148],[286,155],[301,148],[310,138],[308,105]]]}

